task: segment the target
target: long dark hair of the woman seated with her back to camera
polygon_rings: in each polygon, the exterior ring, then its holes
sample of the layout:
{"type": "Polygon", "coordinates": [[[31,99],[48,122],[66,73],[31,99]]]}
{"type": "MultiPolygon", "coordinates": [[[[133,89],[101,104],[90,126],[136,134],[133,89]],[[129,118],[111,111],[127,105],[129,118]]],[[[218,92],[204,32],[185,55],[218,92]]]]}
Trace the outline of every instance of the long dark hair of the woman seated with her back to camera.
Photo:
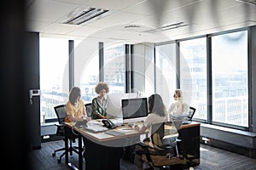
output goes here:
{"type": "Polygon", "coordinates": [[[152,94],[148,98],[149,113],[155,113],[159,116],[166,116],[166,106],[160,94],[152,94]]]}

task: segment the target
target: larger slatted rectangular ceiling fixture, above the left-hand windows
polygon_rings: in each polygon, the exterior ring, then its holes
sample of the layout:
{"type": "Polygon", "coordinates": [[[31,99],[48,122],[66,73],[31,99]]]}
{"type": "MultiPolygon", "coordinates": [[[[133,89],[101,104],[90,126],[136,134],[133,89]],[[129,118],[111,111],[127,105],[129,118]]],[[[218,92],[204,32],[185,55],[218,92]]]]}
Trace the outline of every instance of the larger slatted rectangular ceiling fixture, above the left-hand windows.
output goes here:
{"type": "Polygon", "coordinates": [[[92,19],[96,19],[102,14],[107,13],[107,9],[102,8],[85,8],[76,14],[72,14],[72,17],[63,21],[63,24],[80,25],[92,19]]]}

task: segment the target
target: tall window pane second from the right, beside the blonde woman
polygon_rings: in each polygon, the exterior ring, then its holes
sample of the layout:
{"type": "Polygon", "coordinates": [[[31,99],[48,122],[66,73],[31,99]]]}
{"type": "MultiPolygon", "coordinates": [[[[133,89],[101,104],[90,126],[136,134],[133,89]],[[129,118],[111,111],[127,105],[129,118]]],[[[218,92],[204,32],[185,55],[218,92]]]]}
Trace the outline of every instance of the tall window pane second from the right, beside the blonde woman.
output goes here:
{"type": "Polygon", "coordinates": [[[180,42],[180,87],[186,102],[196,108],[194,118],[207,119],[206,37],[180,42]]]}

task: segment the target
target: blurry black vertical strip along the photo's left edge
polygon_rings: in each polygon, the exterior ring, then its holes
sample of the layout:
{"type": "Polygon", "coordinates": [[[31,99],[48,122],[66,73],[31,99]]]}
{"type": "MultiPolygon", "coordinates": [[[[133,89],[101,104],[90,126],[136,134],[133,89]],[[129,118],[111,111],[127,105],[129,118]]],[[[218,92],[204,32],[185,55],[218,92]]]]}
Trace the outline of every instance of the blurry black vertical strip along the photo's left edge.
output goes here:
{"type": "Polygon", "coordinates": [[[28,169],[23,105],[27,99],[23,90],[25,3],[25,0],[9,0],[0,7],[1,162],[11,161],[12,169],[28,169]]]}

